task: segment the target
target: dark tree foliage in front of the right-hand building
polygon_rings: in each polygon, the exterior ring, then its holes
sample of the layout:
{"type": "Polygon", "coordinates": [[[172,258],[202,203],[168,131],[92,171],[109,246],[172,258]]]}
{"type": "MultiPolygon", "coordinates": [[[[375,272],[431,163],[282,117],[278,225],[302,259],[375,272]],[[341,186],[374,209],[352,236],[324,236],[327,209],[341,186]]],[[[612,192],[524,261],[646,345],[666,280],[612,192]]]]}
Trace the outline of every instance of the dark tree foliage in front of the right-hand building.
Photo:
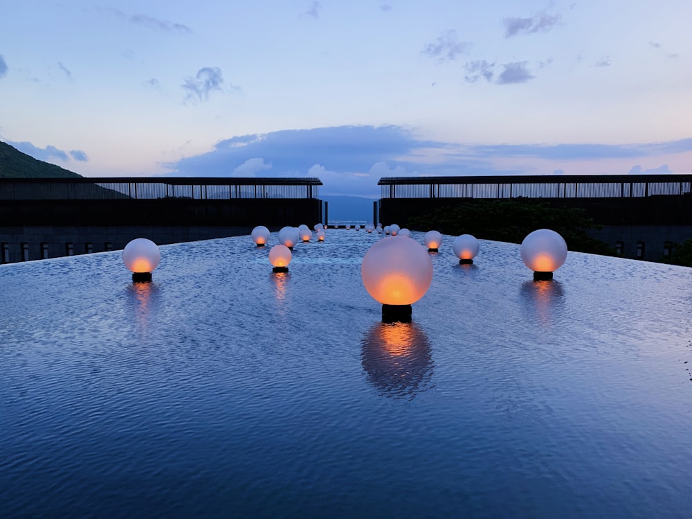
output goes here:
{"type": "Polygon", "coordinates": [[[589,236],[588,231],[601,226],[594,224],[584,209],[552,207],[536,200],[468,200],[410,218],[408,227],[419,231],[437,229],[452,235],[473,234],[476,238],[510,243],[521,243],[536,229],[552,229],[565,238],[572,251],[616,255],[606,243],[589,236]]]}

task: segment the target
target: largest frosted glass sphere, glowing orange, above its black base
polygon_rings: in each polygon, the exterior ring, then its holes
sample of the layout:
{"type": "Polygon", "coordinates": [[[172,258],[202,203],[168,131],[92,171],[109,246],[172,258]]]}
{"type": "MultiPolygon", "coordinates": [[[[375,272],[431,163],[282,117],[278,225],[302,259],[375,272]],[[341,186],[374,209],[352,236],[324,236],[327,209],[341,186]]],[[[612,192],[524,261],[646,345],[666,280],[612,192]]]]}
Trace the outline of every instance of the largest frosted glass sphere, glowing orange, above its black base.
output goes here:
{"type": "Polygon", "coordinates": [[[379,240],[368,249],[361,265],[365,290],[386,305],[410,305],[421,299],[432,282],[428,251],[403,236],[379,240]]]}

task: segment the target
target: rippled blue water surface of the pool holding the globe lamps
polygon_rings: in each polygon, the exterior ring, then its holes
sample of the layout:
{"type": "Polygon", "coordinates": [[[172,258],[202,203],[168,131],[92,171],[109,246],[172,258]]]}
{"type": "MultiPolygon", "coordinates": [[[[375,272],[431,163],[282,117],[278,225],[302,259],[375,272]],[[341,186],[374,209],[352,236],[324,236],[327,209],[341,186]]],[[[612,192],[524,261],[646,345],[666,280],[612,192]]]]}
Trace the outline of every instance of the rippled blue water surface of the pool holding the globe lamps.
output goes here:
{"type": "Polygon", "coordinates": [[[445,236],[387,325],[377,239],[0,266],[0,517],[689,517],[692,270],[445,236]]]}

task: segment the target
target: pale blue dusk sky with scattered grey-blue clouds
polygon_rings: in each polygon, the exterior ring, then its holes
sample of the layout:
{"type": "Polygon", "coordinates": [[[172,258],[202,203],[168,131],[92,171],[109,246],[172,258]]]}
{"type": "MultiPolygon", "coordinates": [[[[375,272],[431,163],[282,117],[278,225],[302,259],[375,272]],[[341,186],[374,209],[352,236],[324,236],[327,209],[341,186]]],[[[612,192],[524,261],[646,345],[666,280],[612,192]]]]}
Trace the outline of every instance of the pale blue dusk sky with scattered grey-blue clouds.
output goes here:
{"type": "Polygon", "coordinates": [[[8,0],[0,140],[85,176],[692,173],[692,3],[8,0]]]}

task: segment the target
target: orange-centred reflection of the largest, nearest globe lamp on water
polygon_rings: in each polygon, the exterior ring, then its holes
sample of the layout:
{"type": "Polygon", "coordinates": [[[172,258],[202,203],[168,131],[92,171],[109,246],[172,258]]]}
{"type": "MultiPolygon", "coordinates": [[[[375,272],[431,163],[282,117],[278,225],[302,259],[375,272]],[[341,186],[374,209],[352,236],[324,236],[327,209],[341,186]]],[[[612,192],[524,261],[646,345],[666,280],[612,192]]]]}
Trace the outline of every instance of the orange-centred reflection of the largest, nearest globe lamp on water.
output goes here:
{"type": "Polygon", "coordinates": [[[372,326],[362,340],[361,364],[383,396],[412,399],[433,387],[430,341],[415,323],[372,326]]]}

